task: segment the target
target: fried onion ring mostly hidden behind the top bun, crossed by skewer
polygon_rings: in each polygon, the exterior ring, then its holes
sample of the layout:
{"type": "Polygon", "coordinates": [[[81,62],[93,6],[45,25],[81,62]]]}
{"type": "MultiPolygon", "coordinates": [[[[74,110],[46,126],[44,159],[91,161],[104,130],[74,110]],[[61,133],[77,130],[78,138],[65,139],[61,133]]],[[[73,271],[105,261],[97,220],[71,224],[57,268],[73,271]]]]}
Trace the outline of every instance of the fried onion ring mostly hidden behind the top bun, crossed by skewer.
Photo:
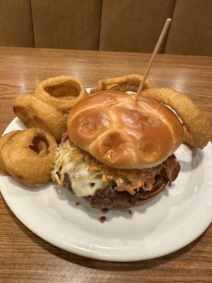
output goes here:
{"type": "MultiPolygon", "coordinates": [[[[98,81],[97,86],[90,90],[90,93],[97,93],[98,91],[132,91],[137,92],[140,86],[140,83],[143,79],[143,76],[139,75],[128,75],[128,76],[119,76],[111,79],[102,79],[98,81]]],[[[146,79],[144,84],[144,89],[151,88],[152,83],[146,79]]]]}

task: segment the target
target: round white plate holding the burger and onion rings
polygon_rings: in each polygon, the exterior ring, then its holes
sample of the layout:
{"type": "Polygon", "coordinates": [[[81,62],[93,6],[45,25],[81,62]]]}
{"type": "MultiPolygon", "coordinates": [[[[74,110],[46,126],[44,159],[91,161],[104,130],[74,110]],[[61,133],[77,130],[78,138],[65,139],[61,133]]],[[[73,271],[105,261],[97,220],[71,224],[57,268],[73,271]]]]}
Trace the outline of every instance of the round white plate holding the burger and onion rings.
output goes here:
{"type": "MultiPolygon", "coordinates": [[[[6,132],[23,129],[16,118],[6,132]]],[[[212,220],[212,146],[177,153],[181,171],[172,187],[141,207],[102,212],[83,199],[49,184],[29,188],[0,177],[8,207],[31,231],[59,248],[88,258],[134,261],[172,253],[194,241],[212,220]],[[75,202],[80,205],[76,207],[75,202]]]]}

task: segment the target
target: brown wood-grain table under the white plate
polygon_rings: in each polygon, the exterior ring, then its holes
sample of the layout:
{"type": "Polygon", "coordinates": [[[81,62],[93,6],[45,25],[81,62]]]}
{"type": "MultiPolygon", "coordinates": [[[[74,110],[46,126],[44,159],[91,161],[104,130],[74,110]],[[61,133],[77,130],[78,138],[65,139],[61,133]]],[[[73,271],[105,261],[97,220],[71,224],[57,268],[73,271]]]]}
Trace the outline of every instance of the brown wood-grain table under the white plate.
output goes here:
{"type": "MultiPolygon", "coordinates": [[[[51,76],[67,74],[86,87],[98,80],[143,74],[150,54],[0,47],[0,134],[11,122],[13,98],[51,76]]],[[[149,75],[155,86],[187,93],[212,124],[212,58],[160,54],[149,75]]],[[[16,219],[0,197],[0,282],[212,282],[212,226],[163,258],[102,262],[60,250],[16,219]]]]}

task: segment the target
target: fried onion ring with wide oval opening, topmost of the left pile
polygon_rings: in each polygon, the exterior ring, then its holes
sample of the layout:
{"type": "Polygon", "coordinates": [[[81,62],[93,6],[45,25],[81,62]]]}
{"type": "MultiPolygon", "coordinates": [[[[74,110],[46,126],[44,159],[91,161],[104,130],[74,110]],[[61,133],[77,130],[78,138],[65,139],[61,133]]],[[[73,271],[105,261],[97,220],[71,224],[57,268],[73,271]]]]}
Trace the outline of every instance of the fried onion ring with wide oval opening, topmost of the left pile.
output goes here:
{"type": "Polygon", "coordinates": [[[55,76],[39,83],[34,95],[66,113],[86,96],[86,88],[72,76],[55,76]]]}

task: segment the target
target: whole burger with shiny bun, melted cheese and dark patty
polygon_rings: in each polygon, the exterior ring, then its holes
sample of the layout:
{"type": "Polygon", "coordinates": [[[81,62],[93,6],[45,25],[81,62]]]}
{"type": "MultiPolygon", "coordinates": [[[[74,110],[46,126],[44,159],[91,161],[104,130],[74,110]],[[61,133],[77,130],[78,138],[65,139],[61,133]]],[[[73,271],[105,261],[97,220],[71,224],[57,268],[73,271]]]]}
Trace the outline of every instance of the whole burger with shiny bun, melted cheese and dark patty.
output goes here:
{"type": "Polygon", "coordinates": [[[69,112],[52,179],[91,207],[133,207],[151,200],[179,174],[182,123],[151,98],[99,91],[69,112]]]}

